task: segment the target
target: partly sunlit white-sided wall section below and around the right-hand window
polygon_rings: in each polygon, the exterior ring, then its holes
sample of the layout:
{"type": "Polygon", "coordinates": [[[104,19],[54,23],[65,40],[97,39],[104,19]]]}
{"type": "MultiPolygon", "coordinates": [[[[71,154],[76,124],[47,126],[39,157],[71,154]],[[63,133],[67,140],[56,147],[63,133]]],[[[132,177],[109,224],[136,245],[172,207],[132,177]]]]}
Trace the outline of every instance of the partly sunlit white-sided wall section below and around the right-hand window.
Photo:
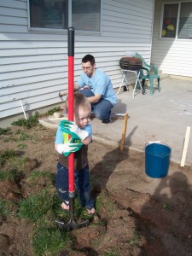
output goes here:
{"type": "MultiPolygon", "coordinates": [[[[162,73],[192,78],[192,40],[160,38],[160,15],[162,3],[177,1],[156,0],[154,5],[154,30],[152,40],[151,62],[162,73]]],[[[184,1],[183,1],[184,2],[184,1]]],[[[186,1],[185,1],[186,2],[186,1]]]]}

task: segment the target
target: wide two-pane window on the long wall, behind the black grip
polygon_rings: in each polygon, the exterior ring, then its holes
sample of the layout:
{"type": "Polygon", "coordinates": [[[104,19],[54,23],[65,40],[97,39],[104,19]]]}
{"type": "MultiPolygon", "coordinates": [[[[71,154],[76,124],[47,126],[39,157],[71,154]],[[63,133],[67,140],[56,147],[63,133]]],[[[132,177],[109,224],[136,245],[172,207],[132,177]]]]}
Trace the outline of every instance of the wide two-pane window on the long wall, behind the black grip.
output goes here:
{"type": "Polygon", "coordinates": [[[101,0],[28,0],[29,30],[100,32],[101,0]]]}

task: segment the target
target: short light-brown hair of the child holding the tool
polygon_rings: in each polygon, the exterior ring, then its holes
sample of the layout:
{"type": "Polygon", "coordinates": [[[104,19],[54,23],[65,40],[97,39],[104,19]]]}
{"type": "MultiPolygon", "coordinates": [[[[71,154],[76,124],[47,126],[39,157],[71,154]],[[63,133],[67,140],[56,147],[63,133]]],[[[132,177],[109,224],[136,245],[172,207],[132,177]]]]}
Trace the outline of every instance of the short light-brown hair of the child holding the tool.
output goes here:
{"type": "MultiPolygon", "coordinates": [[[[86,96],[84,96],[84,94],[79,91],[75,91],[74,92],[74,110],[78,108],[83,108],[84,110],[91,111],[90,102],[87,100],[86,96]]],[[[68,113],[68,97],[66,99],[65,109],[66,109],[66,112],[68,113]]]]}

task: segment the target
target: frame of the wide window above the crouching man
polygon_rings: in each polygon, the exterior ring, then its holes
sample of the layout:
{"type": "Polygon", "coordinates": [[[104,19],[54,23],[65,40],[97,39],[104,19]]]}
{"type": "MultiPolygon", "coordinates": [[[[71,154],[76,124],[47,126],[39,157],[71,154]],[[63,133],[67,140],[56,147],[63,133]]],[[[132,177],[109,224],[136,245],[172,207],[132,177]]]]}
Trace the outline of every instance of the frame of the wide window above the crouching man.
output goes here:
{"type": "MultiPolygon", "coordinates": [[[[32,27],[30,24],[30,0],[27,0],[27,26],[28,32],[39,32],[39,33],[58,33],[58,34],[67,34],[67,28],[44,28],[44,27],[32,27]]],[[[101,9],[100,9],[100,31],[85,31],[85,30],[76,30],[76,33],[79,34],[101,34],[102,33],[102,0],[101,9]]],[[[72,26],[72,0],[68,0],[68,27],[72,26]]]]}

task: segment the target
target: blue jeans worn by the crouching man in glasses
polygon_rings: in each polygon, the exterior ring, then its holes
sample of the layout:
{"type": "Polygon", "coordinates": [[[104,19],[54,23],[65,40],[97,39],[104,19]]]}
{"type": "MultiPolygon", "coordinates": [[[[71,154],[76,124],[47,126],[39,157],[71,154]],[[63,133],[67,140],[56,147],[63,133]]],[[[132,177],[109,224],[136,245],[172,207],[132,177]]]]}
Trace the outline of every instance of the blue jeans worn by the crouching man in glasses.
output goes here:
{"type": "MultiPolygon", "coordinates": [[[[86,97],[94,96],[91,90],[84,89],[79,90],[86,97]]],[[[108,120],[111,116],[111,109],[113,108],[113,104],[105,99],[100,99],[99,102],[91,103],[91,110],[95,114],[97,119],[100,120],[108,120]]]]}

